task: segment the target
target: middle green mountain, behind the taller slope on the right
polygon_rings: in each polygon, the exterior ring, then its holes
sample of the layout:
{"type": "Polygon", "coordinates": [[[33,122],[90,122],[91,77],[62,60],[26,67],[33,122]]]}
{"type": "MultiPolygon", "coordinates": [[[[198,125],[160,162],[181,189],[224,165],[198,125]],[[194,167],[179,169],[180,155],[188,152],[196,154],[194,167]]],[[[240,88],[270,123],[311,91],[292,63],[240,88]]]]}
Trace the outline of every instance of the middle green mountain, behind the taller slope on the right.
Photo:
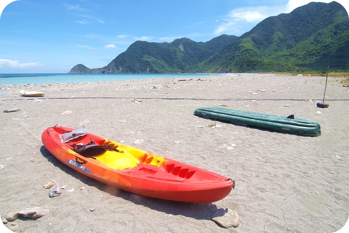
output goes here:
{"type": "Polygon", "coordinates": [[[171,43],[136,41],[107,66],[91,69],[90,73],[181,73],[237,39],[234,35],[221,35],[205,43],[187,38],[171,43]]]}

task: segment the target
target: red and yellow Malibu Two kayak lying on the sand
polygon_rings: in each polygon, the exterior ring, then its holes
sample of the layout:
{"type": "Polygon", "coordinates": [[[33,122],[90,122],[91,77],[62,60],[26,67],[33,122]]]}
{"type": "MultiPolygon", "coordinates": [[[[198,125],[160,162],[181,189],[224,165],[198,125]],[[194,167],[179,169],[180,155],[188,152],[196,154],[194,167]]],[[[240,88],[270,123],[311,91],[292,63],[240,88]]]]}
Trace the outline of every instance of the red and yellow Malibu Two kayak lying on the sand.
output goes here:
{"type": "Polygon", "coordinates": [[[51,127],[42,134],[48,151],[69,167],[128,192],[180,202],[225,198],[235,181],[173,159],[87,133],[51,127]]]}

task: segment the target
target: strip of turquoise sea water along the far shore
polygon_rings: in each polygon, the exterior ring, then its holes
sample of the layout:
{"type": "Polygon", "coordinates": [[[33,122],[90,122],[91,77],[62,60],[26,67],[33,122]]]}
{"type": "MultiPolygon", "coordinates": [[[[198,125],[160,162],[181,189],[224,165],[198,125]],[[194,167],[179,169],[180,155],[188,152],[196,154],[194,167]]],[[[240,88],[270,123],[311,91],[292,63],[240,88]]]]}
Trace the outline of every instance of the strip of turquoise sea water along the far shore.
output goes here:
{"type": "Polygon", "coordinates": [[[74,83],[156,78],[198,78],[219,74],[0,74],[0,85],[74,83]]]}

